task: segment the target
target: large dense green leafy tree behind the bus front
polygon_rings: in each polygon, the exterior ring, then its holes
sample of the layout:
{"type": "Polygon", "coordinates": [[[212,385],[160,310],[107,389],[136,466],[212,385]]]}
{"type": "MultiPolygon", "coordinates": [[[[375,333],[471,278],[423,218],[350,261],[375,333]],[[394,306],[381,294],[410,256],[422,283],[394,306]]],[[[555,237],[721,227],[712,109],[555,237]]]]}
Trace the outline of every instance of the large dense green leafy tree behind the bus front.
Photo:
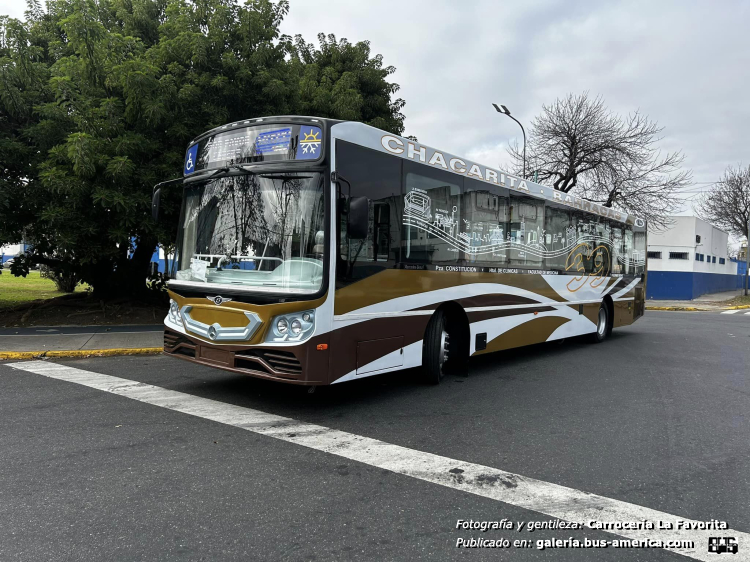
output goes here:
{"type": "Polygon", "coordinates": [[[33,245],[103,297],[145,290],[174,239],[178,177],[198,134],[252,117],[315,114],[400,133],[392,67],[366,42],[280,35],[282,0],[51,0],[0,19],[0,244],[33,245]]]}

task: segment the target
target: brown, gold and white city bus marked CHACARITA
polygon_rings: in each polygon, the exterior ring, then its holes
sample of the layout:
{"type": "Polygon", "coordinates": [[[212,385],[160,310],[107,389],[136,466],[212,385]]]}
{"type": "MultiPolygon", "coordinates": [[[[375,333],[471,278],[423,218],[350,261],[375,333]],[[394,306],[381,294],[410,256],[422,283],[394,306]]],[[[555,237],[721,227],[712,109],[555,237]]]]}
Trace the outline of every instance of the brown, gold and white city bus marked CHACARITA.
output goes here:
{"type": "Polygon", "coordinates": [[[248,119],[187,148],[164,352],[285,383],[574,336],[645,309],[646,222],[358,122],[248,119]]]}

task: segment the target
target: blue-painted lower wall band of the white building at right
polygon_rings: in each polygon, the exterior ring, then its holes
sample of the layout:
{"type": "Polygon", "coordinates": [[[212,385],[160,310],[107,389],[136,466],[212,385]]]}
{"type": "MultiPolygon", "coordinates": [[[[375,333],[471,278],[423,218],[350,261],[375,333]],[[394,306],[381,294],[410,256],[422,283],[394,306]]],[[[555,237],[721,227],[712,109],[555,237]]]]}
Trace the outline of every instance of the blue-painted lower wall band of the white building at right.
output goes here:
{"type": "Polygon", "coordinates": [[[742,288],[742,276],[698,271],[649,271],[646,299],[691,300],[742,288]]]}

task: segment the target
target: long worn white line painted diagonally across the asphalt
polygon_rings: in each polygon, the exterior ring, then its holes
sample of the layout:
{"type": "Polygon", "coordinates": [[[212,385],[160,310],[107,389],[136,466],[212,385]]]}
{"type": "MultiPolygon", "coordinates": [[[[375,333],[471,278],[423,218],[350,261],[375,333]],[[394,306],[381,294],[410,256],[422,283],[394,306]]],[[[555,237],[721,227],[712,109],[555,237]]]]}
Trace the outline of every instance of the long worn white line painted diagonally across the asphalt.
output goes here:
{"type": "MultiPolygon", "coordinates": [[[[592,520],[638,522],[645,519],[652,521],[657,527],[659,521],[668,521],[675,527],[677,521],[684,521],[688,525],[699,523],[655,509],[597,496],[498,468],[415,451],[377,439],[129,379],[44,361],[11,363],[8,366],[302,445],[397,474],[543,513],[557,519],[583,523],[592,520]]],[[[746,553],[750,551],[750,534],[733,529],[717,531],[677,528],[660,530],[657,528],[610,532],[629,539],[660,540],[665,543],[675,540],[694,541],[695,548],[693,549],[667,548],[665,550],[695,560],[716,559],[715,554],[708,552],[708,537],[710,536],[735,537],[739,552],[743,555],[742,560],[748,560],[746,553]]],[[[565,532],[564,538],[568,536],[570,536],[569,532],[565,532]]],[[[583,539],[583,535],[580,538],[583,539]]],[[[735,559],[732,557],[732,560],[735,559]]]]}

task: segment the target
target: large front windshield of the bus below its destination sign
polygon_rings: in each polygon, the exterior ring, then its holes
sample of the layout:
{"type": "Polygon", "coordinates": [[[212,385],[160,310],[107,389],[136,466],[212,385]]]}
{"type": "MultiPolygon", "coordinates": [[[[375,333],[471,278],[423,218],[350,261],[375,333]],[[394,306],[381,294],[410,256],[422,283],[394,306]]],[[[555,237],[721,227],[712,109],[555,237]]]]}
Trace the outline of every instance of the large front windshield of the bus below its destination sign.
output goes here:
{"type": "Polygon", "coordinates": [[[316,293],[323,284],[324,231],[320,173],[250,173],[188,185],[172,277],[316,293]]]}

